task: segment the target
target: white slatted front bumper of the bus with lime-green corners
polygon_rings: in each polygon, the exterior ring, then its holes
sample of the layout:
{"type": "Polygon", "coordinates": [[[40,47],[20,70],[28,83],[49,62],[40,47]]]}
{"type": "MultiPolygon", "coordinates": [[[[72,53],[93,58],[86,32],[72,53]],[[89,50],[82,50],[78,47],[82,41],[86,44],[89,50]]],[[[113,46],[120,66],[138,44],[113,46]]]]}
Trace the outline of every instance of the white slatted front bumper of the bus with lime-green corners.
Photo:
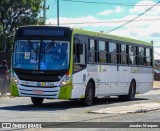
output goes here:
{"type": "Polygon", "coordinates": [[[27,87],[11,83],[11,95],[21,97],[41,97],[49,99],[70,99],[71,85],[63,87],[27,87]]]}

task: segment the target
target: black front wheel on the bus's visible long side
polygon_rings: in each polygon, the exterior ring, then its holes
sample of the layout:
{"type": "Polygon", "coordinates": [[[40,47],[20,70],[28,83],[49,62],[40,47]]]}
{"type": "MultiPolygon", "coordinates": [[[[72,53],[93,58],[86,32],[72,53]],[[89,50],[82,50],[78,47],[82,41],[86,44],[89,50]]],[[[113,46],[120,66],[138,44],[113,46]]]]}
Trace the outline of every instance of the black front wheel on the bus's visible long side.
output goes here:
{"type": "Polygon", "coordinates": [[[85,106],[91,106],[94,101],[94,89],[91,82],[88,82],[86,91],[85,91],[85,98],[81,99],[82,104],[85,106]]]}

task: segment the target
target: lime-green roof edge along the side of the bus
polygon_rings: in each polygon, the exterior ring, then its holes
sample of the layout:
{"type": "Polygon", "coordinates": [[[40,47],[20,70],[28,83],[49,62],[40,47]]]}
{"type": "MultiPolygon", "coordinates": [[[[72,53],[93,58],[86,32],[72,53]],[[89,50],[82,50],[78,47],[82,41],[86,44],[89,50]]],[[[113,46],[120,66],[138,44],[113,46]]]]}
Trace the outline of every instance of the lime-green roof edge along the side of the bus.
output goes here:
{"type": "Polygon", "coordinates": [[[126,37],[121,37],[121,36],[116,36],[116,35],[110,35],[110,34],[105,34],[105,33],[101,33],[101,32],[86,31],[86,30],[77,29],[77,28],[73,28],[73,32],[77,33],[77,34],[82,34],[82,35],[90,35],[90,36],[95,36],[95,37],[107,38],[107,39],[111,39],[111,40],[117,40],[117,41],[121,41],[121,42],[140,44],[140,45],[146,45],[146,46],[153,46],[153,44],[151,42],[149,43],[149,42],[145,42],[145,41],[141,41],[141,40],[126,38],[126,37]]]}

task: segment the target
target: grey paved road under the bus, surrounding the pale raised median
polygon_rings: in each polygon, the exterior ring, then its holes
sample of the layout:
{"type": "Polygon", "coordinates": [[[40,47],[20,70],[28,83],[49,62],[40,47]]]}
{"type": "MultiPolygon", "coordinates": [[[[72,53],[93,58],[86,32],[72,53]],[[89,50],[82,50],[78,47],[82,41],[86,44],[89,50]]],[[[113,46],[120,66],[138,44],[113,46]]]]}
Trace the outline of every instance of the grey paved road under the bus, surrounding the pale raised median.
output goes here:
{"type": "Polygon", "coordinates": [[[160,122],[160,111],[132,114],[92,114],[93,110],[160,102],[160,90],[137,95],[135,101],[121,102],[116,97],[98,99],[91,107],[79,101],[45,100],[34,107],[30,98],[0,98],[0,122],[160,122]]]}

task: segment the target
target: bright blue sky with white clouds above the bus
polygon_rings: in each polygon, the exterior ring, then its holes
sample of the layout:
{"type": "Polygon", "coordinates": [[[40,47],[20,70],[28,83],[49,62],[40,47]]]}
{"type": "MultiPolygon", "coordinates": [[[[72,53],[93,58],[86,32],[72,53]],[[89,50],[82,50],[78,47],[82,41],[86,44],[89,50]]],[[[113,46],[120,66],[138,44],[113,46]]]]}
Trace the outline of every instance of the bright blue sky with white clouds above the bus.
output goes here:
{"type": "MultiPolygon", "coordinates": [[[[57,0],[46,1],[47,7],[49,6],[46,24],[57,25],[57,0]]],[[[160,3],[154,6],[158,2],[158,0],[59,0],[60,26],[103,31],[146,42],[153,41],[154,58],[160,59],[160,3]],[[153,8],[149,9],[151,7],[153,8]],[[139,17],[136,18],[137,16],[139,17]],[[115,29],[133,19],[135,20],[115,29]]]]}

